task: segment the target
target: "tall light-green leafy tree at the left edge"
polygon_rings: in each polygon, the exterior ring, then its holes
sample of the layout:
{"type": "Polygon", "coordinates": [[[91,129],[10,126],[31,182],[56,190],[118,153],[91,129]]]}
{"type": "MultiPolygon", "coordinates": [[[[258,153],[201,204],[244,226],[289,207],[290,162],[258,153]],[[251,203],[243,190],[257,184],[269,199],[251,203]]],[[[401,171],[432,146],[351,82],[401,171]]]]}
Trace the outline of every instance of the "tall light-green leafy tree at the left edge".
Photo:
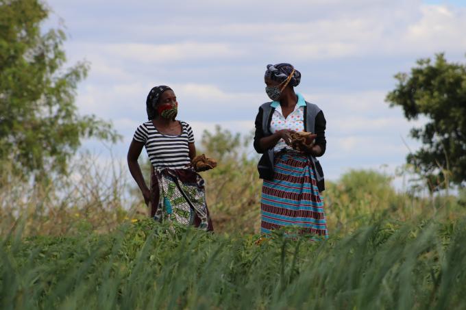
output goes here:
{"type": "Polygon", "coordinates": [[[0,164],[25,176],[66,173],[83,138],[119,139],[109,122],[77,113],[88,64],[62,68],[64,31],[40,29],[49,12],[40,0],[0,0],[0,164]]]}

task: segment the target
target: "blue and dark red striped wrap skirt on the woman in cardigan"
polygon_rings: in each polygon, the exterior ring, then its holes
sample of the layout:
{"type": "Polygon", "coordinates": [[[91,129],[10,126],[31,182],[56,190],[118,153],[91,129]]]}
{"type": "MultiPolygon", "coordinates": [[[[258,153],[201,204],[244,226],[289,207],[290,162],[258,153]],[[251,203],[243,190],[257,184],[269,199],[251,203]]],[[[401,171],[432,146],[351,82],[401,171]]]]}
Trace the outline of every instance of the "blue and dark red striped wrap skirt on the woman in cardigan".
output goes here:
{"type": "Polygon", "coordinates": [[[277,153],[273,180],[264,180],[260,206],[260,231],[293,227],[299,234],[328,237],[323,201],[319,195],[312,162],[295,151],[277,153]]]}

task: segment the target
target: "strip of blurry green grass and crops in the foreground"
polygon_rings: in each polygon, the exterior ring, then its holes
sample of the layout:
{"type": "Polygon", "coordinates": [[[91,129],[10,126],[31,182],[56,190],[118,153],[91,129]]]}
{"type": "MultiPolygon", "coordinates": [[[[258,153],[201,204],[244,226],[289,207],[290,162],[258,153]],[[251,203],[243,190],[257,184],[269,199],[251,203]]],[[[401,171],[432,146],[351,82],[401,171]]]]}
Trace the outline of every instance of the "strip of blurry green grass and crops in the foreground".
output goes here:
{"type": "Polygon", "coordinates": [[[461,309],[466,220],[380,221],[327,242],[151,220],[1,242],[2,309],[461,309]]]}

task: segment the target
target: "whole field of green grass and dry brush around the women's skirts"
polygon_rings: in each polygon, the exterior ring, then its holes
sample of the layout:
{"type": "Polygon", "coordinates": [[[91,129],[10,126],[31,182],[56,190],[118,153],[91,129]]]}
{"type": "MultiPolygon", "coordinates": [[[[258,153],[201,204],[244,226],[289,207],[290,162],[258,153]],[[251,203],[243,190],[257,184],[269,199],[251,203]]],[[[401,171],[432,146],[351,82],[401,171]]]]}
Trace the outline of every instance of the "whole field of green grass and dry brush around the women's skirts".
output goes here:
{"type": "Polygon", "coordinates": [[[259,239],[262,181],[245,149],[228,132],[204,136],[219,159],[203,172],[214,234],[148,219],[115,162],[85,155],[49,183],[3,167],[1,309],[466,307],[465,192],[432,199],[349,171],[326,183],[329,240],[259,239]]]}

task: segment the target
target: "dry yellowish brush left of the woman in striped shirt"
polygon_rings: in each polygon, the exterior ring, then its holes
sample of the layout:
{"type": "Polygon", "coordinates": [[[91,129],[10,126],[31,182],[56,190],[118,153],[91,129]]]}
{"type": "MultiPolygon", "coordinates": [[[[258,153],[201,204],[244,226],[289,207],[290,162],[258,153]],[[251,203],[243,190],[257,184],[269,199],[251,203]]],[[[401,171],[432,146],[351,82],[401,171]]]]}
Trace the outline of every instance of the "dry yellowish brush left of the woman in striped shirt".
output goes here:
{"type": "Polygon", "coordinates": [[[0,233],[8,233],[18,220],[25,235],[73,233],[82,226],[108,232],[128,217],[128,179],[119,162],[99,163],[96,155],[82,153],[70,166],[69,175],[49,175],[41,182],[2,166],[0,233]]]}

